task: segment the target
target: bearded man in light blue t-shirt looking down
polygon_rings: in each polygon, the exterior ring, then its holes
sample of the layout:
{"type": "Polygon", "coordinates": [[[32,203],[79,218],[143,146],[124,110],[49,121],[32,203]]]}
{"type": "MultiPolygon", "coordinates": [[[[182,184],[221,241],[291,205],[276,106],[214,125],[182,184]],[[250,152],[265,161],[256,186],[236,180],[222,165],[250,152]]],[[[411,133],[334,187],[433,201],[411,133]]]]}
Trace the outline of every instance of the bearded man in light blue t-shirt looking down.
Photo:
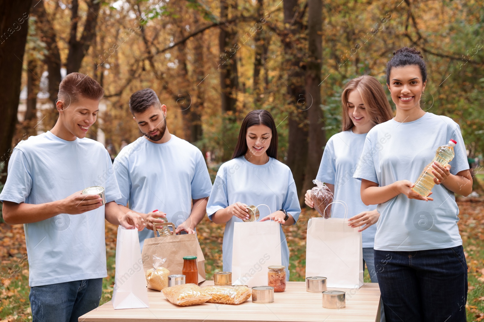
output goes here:
{"type": "Polygon", "coordinates": [[[175,224],[177,234],[194,234],[212,190],[201,151],[169,133],[166,106],[151,88],[131,95],[129,107],[144,135],[114,160],[121,190],[116,202],[124,211],[136,211],[144,218],[146,228],[138,234],[141,247],[153,236],[153,224],[163,222],[161,218],[175,224]]]}

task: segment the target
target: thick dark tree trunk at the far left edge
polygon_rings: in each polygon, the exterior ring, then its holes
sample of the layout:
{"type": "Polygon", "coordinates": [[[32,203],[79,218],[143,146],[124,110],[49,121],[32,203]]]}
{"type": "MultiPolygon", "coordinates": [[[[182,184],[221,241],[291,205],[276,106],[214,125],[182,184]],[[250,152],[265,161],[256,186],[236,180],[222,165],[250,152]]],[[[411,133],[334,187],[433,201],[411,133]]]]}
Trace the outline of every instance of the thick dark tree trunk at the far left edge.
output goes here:
{"type": "MultiPolygon", "coordinates": [[[[12,154],[31,0],[0,0],[0,162],[12,154]],[[18,28],[20,27],[20,28],[18,28]]],[[[6,178],[2,178],[2,182],[6,178]]]]}

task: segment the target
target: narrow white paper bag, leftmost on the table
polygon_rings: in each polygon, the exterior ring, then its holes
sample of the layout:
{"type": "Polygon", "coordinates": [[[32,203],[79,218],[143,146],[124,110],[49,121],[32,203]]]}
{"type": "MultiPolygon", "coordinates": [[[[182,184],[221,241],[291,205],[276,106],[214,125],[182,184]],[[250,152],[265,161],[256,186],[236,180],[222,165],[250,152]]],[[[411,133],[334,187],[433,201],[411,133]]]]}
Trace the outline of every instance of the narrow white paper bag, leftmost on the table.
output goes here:
{"type": "Polygon", "coordinates": [[[118,227],[112,303],[114,308],[150,307],[136,229],[118,227]]]}

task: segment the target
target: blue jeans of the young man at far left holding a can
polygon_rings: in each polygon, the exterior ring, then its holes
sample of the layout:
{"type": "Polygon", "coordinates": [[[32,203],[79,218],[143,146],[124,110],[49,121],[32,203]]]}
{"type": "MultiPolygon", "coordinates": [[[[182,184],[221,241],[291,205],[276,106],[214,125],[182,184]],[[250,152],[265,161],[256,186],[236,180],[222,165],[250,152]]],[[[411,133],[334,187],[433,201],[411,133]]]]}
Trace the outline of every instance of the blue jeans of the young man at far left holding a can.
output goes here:
{"type": "Polygon", "coordinates": [[[30,288],[32,322],[77,322],[97,308],[103,279],[75,280],[30,288]]]}

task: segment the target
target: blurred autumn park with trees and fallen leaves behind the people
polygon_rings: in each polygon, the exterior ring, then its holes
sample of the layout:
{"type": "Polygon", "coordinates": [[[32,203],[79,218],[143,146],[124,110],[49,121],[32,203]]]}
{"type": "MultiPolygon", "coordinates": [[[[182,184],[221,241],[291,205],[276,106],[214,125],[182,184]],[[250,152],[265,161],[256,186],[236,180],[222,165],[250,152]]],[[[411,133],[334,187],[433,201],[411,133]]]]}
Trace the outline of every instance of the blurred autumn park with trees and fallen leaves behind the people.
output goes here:
{"type": "MultiPolygon", "coordinates": [[[[457,199],[468,320],[481,321],[483,26],[484,0],[0,0],[1,182],[15,145],[55,124],[62,77],[82,72],[106,90],[88,137],[113,158],[141,135],[128,100],[150,87],[167,106],[170,132],[202,151],[212,179],[230,159],[245,114],[270,111],[278,157],[303,200],[326,141],[340,131],[346,82],[368,74],[384,85],[393,52],[416,47],[429,70],[421,106],[460,125],[475,175],[473,194],[457,199]]],[[[304,224],[285,229],[291,280],[303,280],[304,224]]],[[[199,225],[209,278],[222,269],[222,236],[223,226],[199,225]]],[[[29,321],[23,227],[0,223],[0,237],[0,321],[29,321]]],[[[115,242],[116,227],[107,224],[104,302],[112,294],[115,242]]]]}

